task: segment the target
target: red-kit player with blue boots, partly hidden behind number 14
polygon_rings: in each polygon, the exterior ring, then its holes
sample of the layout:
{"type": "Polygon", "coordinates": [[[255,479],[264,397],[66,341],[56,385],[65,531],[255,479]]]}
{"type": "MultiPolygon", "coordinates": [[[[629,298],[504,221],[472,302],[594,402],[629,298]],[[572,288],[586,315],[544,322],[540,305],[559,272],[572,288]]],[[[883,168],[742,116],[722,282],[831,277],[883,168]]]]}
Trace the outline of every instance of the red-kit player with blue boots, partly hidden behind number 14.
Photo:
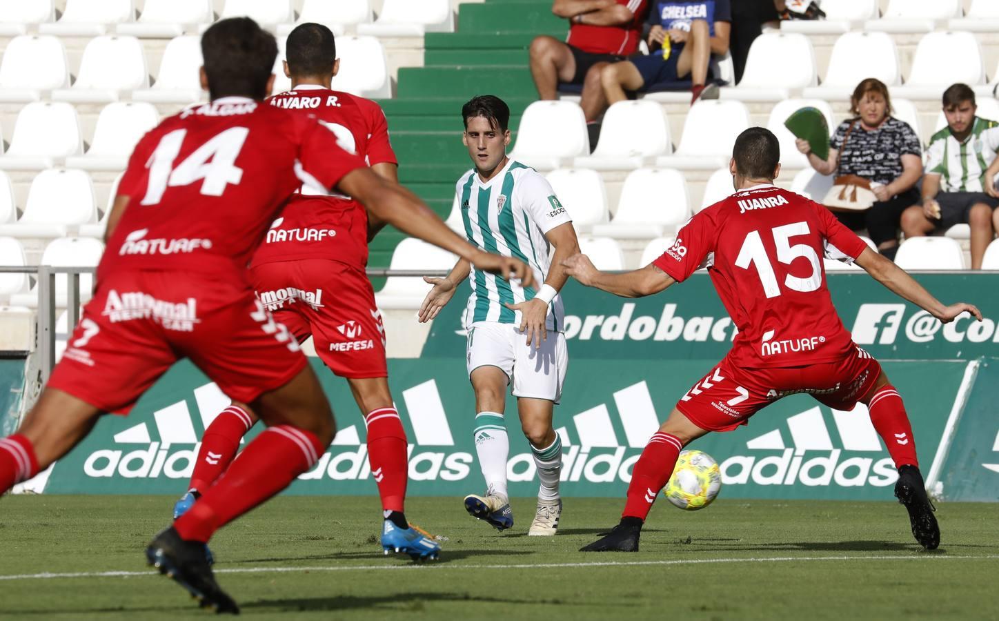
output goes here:
{"type": "MultiPolygon", "coordinates": [[[[288,35],[285,49],[292,90],[268,103],[298,115],[315,115],[372,171],[397,183],[396,155],[382,108],[331,90],[340,60],[330,29],[302,24],[288,35]]],[[[303,185],[271,225],[250,275],[257,297],[274,318],[299,342],[312,336],[319,357],[347,378],[368,429],[368,459],[385,518],[383,549],[427,558],[441,547],[410,527],[404,513],[408,442],[389,390],[382,314],[365,274],[368,241],[384,225],[350,197],[318,196],[303,185]]],[[[175,517],[225,472],[257,420],[253,409],[240,402],[216,416],[205,430],[189,490],[174,507],[175,517]]]]}

